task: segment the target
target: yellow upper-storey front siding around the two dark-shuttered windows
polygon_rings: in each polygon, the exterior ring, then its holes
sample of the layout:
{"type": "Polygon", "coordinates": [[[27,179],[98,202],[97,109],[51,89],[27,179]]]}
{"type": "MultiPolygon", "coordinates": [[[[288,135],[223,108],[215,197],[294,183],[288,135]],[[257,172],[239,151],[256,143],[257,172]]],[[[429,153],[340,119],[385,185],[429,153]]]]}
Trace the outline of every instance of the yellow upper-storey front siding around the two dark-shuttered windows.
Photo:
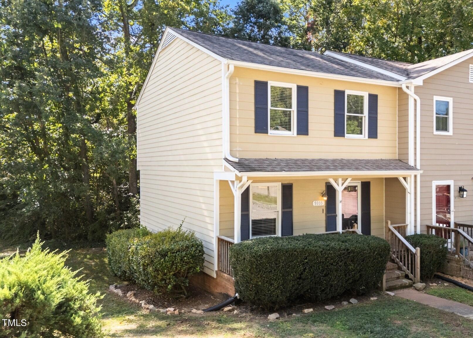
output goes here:
{"type": "Polygon", "coordinates": [[[397,88],[235,67],[230,78],[230,151],[242,158],[386,158],[397,156],[397,88]],[[309,135],[254,133],[254,80],[309,87],[309,135]],[[334,89],[378,94],[378,138],[333,136],[334,89]]]}

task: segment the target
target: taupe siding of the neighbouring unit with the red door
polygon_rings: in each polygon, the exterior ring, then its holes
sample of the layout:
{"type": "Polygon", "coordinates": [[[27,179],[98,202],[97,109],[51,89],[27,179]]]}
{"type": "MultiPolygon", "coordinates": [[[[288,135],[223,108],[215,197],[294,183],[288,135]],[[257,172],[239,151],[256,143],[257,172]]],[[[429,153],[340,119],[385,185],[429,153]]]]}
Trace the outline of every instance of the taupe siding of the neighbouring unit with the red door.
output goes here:
{"type": "MultiPolygon", "coordinates": [[[[473,58],[425,79],[415,88],[420,97],[420,224],[432,223],[432,181],[454,180],[454,220],[473,220],[473,83],[469,65],[473,58]],[[433,97],[453,98],[453,135],[434,135],[433,97]],[[458,186],[468,190],[458,197],[458,186]]],[[[425,232],[425,226],[421,231],[425,232]]]]}

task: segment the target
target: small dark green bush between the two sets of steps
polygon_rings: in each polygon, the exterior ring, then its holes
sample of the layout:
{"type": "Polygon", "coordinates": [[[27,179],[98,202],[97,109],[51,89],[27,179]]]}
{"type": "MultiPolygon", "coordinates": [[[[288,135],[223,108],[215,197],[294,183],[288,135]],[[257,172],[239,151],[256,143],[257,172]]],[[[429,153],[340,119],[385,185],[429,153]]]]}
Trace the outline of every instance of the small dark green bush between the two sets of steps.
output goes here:
{"type": "Polygon", "coordinates": [[[447,240],[436,235],[425,233],[406,236],[414,247],[420,248],[420,278],[432,278],[439,272],[447,259],[447,240]]]}

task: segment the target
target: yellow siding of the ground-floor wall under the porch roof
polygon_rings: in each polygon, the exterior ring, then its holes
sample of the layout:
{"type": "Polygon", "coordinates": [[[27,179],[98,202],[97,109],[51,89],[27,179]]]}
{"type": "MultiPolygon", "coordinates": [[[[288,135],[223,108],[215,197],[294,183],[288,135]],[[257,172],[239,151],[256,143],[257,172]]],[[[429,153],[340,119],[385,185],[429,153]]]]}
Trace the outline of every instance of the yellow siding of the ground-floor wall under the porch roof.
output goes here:
{"type": "MultiPolygon", "coordinates": [[[[248,179],[251,179],[250,177],[248,179]]],[[[397,180],[397,178],[395,178],[397,180]]],[[[371,182],[371,234],[384,238],[384,178],[356,178],[354,181],[371,182]]],[[[320,233],[325,231],[326,206],[313,206],[321,200],[327,179],[255,179],[253,182],[292,183],[293,234],[320,233]]],[[[405,203],[405,197],[400,203],[405,203]]],[[[233,237],[233,194],[228,182],[220,183],[220,235],[233,237]]]]}

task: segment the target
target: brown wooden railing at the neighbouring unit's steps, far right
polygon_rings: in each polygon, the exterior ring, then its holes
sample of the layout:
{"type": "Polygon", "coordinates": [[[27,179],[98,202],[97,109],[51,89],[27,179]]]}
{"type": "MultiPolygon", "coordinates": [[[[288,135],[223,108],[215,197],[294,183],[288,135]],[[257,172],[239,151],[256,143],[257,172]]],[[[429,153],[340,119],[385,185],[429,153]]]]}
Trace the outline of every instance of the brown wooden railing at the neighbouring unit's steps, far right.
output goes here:
{"type": "Polygon", "coordinates": [[[458,228],[449,226],[427,225],[427,233],[437,235],[447,240],[447,250],[449,254],[456,255],[464,259],[465,264],[473,268],[473,238],[465,231],[467,224],[455,223],[458,228]]]}

